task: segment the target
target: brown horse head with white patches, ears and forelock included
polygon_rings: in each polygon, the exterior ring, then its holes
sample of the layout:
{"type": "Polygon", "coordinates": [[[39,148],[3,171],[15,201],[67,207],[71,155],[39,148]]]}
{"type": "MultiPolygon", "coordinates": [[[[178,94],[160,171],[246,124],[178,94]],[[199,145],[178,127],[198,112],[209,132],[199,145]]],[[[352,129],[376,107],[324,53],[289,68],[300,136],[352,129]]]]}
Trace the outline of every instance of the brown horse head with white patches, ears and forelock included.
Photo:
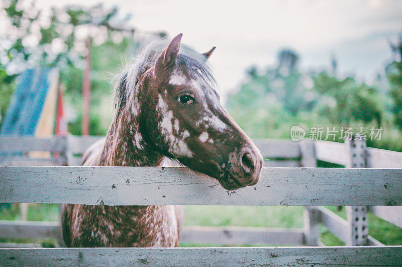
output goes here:
{"type": "MultiPolygon", "coordinates": [[[[208,58],[181,45],[179,34],[159,51],[136,83],[144,142],[228,190],[258,182],[263,158],[229,116],[214,89],[208,58]]],[[[139,144],[140,145],[140,144],[139,144]]]]}

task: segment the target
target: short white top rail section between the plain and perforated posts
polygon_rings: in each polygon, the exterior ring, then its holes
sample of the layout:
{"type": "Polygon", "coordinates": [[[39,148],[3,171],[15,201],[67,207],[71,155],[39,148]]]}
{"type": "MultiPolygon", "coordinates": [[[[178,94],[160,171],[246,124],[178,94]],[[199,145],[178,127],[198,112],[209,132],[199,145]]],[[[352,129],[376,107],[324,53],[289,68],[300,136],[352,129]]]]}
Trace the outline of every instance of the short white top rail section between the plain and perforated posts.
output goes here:
{"type": "Polygon", "coordinates": [[[331,141],[315,141],[316,157],[336,164],[346,164],[345,145],[331,141]]]}

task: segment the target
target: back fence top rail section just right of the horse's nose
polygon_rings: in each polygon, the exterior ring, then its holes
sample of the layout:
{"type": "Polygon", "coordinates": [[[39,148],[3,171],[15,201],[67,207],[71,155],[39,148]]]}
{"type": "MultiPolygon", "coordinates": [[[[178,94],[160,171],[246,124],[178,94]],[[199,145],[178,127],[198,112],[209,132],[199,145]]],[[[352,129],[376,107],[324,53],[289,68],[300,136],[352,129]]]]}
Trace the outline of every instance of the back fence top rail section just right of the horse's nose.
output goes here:
{"type": "Polygon", "coordinates": [[[255,139],[255,145],[264,158],[299,158],[300,149],[296,142],[287,139],[255,139]]]}

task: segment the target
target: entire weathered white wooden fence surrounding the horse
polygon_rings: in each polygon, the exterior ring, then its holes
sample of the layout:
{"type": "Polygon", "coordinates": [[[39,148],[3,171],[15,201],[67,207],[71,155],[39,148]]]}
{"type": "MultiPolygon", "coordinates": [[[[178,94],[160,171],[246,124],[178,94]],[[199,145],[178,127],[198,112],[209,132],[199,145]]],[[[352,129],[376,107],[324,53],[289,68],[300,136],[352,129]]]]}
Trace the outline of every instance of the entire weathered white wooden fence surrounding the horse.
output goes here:
{"type": "MultiPolygon", "coordinates": [[[[0,165],[79,165],[79,154],[96,140],[97,137],[73,136],[0,137],[0,165]]],[[[316,246],[320,244],[318,226],[323,223],[348,245],[375,246],[3,248],[0,262],[11,265],[398,265],[402,262],[402,246],[383,246],[368,235],[367,227],[367,210],[402,226],[402,153],[366,148],[364,142],[357,140],[346,144],[285,140],[256,140],[256,143],[264,157],[271,159],[266,165],[276,168],[264,168],[256,186],[237,191],[227,191],[212,180],[193,177],[185,168],[3,166],[0,202],[304,205],[308,206],[304,229],[192,226],[185,227],[180,241],[316,246]],[[317,160],[359,168],[314,168],[317,160]],[[287,168],[277,168],[281,166],[287,168]],[[132,194],[133,191],[141,193],[132,194]],[[348,220],[322,205],[347,205],[348,220]]],[[[60,226],[53,222],[0,221],[0,237],[59,239],[60,226]]]]}

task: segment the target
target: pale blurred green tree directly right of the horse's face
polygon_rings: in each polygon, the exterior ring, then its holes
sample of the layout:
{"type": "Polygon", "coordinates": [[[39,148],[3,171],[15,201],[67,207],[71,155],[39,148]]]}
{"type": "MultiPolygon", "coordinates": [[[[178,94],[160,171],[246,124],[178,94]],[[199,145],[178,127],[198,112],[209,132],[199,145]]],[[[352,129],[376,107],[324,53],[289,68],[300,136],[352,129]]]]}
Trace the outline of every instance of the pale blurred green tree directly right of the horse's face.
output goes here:
{"type": "Polygon", "coordinates": [[[305,76],[297,69],[298,59],[296,52],[281,50],[276,66],[262,75],[257,67],[248,68],[250,81],[228,97],[229,113],[251,136],[267,137],[276,131],[280,135],[275,137],[288,138],[293,118],[301,111],[311,110],[301,82],[305,76]],[[283,131],[285,128],[288,129],[283,131]]]}

